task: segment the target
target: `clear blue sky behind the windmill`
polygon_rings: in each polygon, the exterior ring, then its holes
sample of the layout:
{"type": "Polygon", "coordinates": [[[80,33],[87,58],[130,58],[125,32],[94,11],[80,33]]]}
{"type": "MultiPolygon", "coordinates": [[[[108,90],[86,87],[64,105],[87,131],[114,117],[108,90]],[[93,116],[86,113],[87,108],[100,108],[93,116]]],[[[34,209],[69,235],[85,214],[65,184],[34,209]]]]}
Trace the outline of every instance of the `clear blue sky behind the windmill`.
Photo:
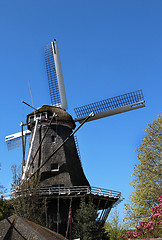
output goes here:
{"type": "Polygon", "coordinates": [[[162,1],[0,0],[0,184],[8,190],[21,149],[7,151],[5,136],[19,132],[31,109],[50,104],[44,46],[57,39],[69,109],[138,89],[146,108],[89,122],[78,132],[92,186],[122,192],[122,216],[134,150],[162,103],[162,1]]]}

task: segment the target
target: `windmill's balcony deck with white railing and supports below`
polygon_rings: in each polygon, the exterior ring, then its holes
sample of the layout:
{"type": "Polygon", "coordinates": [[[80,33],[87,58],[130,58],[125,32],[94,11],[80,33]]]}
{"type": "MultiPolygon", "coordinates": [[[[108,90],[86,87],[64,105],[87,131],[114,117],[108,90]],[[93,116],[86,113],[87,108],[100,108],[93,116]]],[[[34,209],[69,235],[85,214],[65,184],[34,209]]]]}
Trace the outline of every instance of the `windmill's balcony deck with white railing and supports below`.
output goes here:
{"type": "MultiPolygon", "coordinates": [[[[17,188],[17,190],[14,192],[3,194],[3,198],[9,200],[22,196],[32,197],[35,194],[40,198],[46,199],[50,213],[57,213],[59,209],[61,216],[64,219],[67,219],[67,221],[69,217],[70,206],[71,209],[73,209],[73,214],[75,214],[76,209],[78,209],[80,205],[81,199],[84,199],[86,202],[90,200],[93,202],[98,211],[98,219],[101,224],[105,223],[111,208],[115,207],[123,200],[121,193],[118,191],[92,186],[49,186],[39,187],[38,189],[17,188]]],[[[60,225],[60,227],[62,226],[65,228],[64,230],[67,228],[67,221],[63,222],[63,225],[60,225]]]]}

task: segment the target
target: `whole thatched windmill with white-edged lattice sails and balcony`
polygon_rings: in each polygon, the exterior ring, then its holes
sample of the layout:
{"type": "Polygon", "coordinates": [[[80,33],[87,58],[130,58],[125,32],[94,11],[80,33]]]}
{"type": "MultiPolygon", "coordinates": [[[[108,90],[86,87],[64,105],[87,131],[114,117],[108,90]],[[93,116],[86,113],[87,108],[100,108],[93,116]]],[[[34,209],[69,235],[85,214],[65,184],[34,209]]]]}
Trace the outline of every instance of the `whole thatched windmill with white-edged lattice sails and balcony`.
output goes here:
{"type": "Polygon", "coordinates": [[[102,223],[121,199],[120,192],[90,186],[78,154],[75,123],[82,126],[88,121],[142,108],[145,101],[142,91],[138,90],[75,108],[77,117],[73,119],[66,111],[68,106],[56,40],[45,46],[45,61],[52,105],[34,109],[27,115],[28,130],[23,131],[24,124],[21,124],[21,132],[6,136],[6,143],[12,149],[22,142],[22,182],[35,174],[40,176],[42,195],[50,195],[49,214],[55,219],[55,228],[68,236],[68,216],[78,208],[81,196],[91,196],[97,209],[103,210],[100,215],[102,223]],[[30,147],[25,163],[25,144],[29,136],[30,147]]]}

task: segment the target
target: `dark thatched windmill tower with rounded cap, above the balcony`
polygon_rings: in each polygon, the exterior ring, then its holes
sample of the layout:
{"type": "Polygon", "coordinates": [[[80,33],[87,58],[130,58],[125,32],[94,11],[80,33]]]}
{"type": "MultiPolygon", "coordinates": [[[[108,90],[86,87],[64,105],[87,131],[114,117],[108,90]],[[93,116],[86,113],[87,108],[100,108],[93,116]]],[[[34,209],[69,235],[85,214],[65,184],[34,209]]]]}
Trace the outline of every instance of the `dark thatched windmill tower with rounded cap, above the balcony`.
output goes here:
{"type": "MultiPolygon", "coordinates": [[[[33,156],[47,128],[49,129],[30,167],[31,173],[35,172],[36,169],[48,159],[57,147],[70,136],[76,126],[72,117],[62,108],[44,105],[39,109],[39,112],[33,112],[27,116],[28,128],[32,132],[31,138],[35,126],[34,114],[39,116],[40,120],[32,151],[33,156]],[[55,114],[55,117],[49,126],[53,114],[55,114]],[[41,116],[46,116],[46,118],[41,116]]],[[[74,137],[71,137],[67,143],[49,159],[48,163],[40,169],[39,175],[41,186],[89,186],[78,156],[74,137]]]]}

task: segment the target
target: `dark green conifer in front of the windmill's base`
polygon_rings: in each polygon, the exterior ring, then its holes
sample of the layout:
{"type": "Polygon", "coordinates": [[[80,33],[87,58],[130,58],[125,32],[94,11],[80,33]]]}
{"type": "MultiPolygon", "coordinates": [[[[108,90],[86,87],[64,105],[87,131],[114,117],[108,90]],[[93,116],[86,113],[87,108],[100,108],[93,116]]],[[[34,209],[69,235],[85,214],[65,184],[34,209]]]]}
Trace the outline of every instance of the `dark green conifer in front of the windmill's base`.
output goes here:
{"type": "Polygon", "coordinates": [[[97,220],[98,214],[92,201],[86,203],[81,201],[79,209],[76,211],[72,225],[73,239],[81,240],[104,240],[108,239],[105,229],[97,220]]]}

